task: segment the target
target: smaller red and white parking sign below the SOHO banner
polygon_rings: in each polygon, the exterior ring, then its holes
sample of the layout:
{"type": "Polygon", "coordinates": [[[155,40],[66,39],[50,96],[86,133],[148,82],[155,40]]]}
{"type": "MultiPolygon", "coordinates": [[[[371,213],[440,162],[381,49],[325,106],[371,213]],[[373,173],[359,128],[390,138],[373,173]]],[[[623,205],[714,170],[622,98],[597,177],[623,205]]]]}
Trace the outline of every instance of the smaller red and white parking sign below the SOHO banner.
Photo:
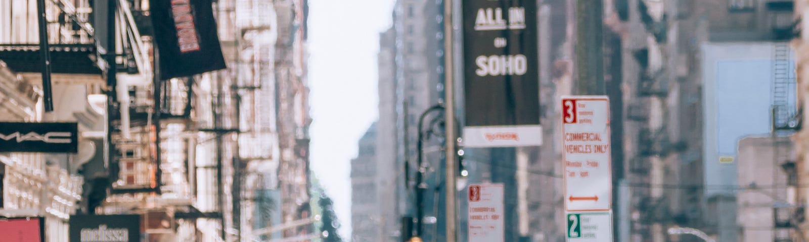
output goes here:
{"type": "Polygon", "coordinates": [[[473,184],[469,186],[469,242],[503,242],[506,240],[503,220],[503,185],[473,184]]]}

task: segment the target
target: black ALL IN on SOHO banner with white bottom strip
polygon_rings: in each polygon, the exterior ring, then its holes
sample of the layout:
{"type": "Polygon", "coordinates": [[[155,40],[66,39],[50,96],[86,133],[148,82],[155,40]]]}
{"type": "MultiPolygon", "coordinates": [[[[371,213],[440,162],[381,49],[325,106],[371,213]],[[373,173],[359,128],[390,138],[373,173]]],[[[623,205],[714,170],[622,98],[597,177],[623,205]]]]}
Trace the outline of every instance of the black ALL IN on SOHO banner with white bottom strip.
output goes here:
{"type": "Polygon", "coordinates": [[[464,1],[466,147],[542,144],[536,1],[464,1]]]}

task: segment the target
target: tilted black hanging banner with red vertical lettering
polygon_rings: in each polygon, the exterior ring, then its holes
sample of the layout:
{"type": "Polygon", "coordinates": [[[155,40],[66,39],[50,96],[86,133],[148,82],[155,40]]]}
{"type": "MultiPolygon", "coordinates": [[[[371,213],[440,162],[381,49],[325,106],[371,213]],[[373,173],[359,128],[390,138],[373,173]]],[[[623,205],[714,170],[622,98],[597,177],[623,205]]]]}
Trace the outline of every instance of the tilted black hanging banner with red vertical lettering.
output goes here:
{"type": "Polygon", "coordinates": [[[160,79],[225,69],[211,0],[150,0],[160,79]]]}

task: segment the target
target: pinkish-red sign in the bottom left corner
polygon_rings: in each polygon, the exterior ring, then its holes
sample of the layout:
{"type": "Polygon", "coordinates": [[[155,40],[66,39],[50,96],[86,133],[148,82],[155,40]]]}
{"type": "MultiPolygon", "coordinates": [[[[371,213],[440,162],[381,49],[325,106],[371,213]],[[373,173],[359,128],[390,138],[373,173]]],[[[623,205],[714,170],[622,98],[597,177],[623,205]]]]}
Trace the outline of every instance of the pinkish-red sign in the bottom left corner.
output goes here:
{"type": "Polygon", "coordinates": [[[44,218],[0,219],[0,236],[9,242],[44,242],[44,218]]]}

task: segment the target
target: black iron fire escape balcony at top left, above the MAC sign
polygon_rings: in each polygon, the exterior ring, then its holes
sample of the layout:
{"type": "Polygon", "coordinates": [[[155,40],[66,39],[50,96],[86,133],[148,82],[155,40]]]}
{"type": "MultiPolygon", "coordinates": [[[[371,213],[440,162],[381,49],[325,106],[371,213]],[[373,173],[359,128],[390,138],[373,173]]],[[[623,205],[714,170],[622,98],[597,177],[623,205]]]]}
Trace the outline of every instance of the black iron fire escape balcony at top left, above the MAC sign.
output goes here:
{"type": "MultiPolygon", "coordinates": [[[[89,0],[48,0],[45,2],[49,52],[52,73],[101,74],[107,69],[104,49],[108,42],[102,36],[106,30],[96,31],[94,24],[113,22],[117,42],[121,43],[114,52],[118,55],[116,68],[126,73],[139,73],[149,77],[146,44],[135,24],[129,1],[118,1],[116,18],[105,20],[107,10],[95,11],[89,0]]],[[[18,1],[19,2],[19,1],[18,1]]],[[[15,3],[18,3],[15,2],[15,3]]],[[[11,19],[7,26],[0,27],[0,60],[17,73],[39,73],[40,41],[37,33],[36,0],[27,0],[8,9],[0,7],[0,17],[11,19]]]]}

